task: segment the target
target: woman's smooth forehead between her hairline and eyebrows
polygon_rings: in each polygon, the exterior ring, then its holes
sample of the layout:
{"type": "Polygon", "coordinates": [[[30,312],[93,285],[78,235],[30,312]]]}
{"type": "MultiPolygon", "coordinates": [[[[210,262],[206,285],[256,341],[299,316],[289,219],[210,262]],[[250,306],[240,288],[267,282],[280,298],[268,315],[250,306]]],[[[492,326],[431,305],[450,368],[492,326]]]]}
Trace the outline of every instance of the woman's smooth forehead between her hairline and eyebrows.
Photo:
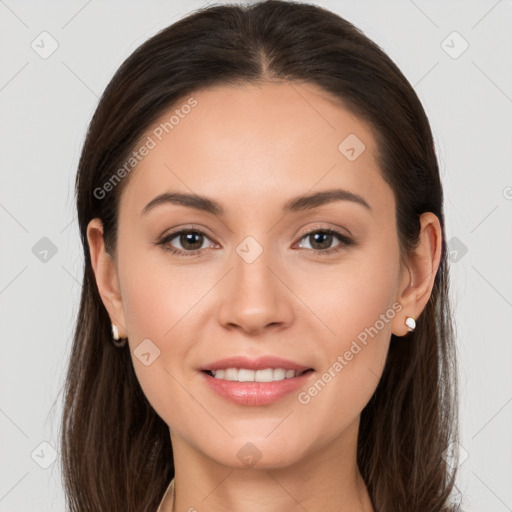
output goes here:
{"type": "Polygon", "coordinates": [[[121,198],[121,209],[138,214],[167,191],[211,196],[228,212],[261,209],[262,198],[280,207],[287,197],[335,187],[364,195],[377,210],[390,199],[370,127],[312,84],[202,89],[141,140],[151,149],[121,198]]]}

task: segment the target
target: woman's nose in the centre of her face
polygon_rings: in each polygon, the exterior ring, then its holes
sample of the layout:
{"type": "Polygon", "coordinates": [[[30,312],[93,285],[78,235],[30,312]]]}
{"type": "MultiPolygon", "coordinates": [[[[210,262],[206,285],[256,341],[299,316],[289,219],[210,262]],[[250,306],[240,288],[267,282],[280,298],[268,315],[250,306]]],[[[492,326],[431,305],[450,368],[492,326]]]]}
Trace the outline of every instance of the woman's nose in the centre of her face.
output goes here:
{"type": "Polygon", "coordinates": [[[294,318],[294,295],[270,251],[263,250],[253,261],[242,251],[234,251],[231,262],[232,269],[218,290],[219,322],[251,335],[289,326],[294,318]]]}

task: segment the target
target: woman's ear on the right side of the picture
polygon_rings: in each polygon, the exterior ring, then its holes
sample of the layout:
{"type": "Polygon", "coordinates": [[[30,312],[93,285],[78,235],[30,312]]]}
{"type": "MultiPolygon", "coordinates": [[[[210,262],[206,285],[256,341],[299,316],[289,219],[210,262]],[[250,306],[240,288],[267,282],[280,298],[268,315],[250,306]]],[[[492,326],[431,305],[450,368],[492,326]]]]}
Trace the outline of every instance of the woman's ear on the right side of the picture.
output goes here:
{"type": "Polygon", "coordinates": [[[400,278],[397,301],[403,309],[393,319],[396,336],[405,336],[409,332],[405,319],[410,316],[417,320],[427,305],[441,261],[443,233],[438,217],[432,212],[423,213],[420,224],[418,246],[407,258],[400,278]]]}

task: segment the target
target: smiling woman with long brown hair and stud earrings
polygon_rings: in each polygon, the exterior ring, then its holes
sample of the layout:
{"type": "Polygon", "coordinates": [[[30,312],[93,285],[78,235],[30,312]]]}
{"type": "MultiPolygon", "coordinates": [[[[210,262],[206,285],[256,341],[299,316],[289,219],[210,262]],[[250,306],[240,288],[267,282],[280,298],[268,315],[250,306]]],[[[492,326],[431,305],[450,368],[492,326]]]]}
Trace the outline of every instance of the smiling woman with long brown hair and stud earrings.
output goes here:
{"type": "Polygon", "coordinates": [[[396,65],[320,7],[188,15],[107,86],[76,180],[72,511],[448,511],[443,192],[396,65]]]}

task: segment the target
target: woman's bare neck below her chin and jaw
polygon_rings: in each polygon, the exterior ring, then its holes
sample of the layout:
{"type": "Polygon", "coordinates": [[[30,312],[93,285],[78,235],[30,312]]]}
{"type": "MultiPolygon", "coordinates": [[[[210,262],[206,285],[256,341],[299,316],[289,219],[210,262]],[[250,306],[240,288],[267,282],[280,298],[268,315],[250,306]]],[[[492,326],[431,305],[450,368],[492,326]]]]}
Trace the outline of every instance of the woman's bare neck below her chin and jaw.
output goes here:
{"type": "Polygon", "coordinates": [[[171,440],[176,512],[373,512],[357,467],[356,445],[350,443],[347,450],[346,438],[286,467],[252,468],[218,464],[172,432],[171,440]]]}

